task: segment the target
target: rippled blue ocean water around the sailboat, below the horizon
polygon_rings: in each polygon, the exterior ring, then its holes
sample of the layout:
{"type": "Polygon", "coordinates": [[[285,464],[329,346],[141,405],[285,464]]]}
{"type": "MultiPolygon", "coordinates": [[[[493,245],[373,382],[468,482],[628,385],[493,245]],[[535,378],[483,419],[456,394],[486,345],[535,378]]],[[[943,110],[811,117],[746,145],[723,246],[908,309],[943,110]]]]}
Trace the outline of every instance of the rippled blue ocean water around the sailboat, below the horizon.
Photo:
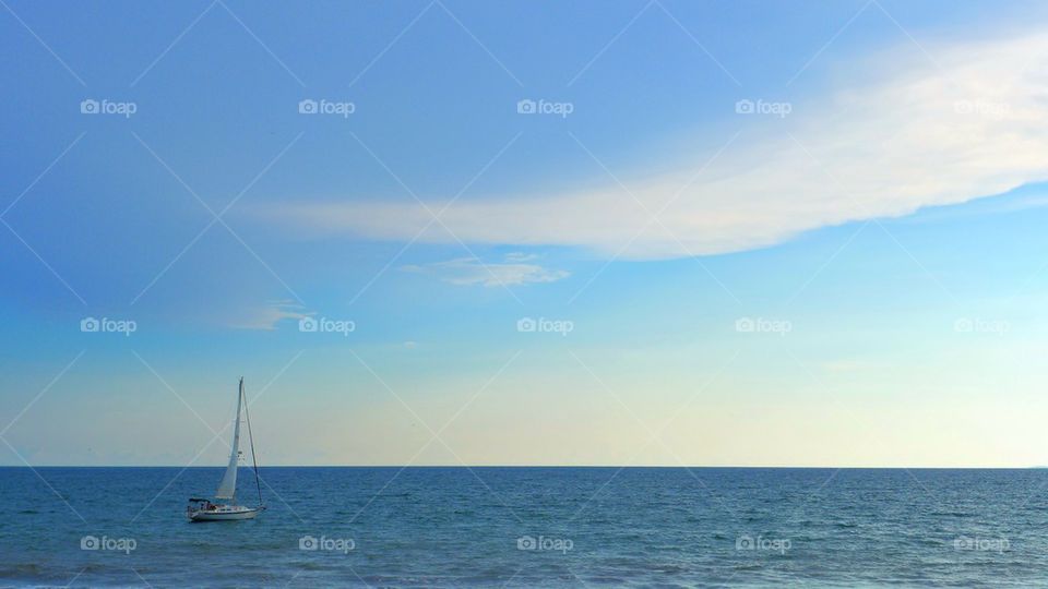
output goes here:
{"type": "Polygon", "coordinates": [[[1048,586],[1048,470],[261,473],[190,524],[221,469],[0,468],[0,586],[1048,586]]]}

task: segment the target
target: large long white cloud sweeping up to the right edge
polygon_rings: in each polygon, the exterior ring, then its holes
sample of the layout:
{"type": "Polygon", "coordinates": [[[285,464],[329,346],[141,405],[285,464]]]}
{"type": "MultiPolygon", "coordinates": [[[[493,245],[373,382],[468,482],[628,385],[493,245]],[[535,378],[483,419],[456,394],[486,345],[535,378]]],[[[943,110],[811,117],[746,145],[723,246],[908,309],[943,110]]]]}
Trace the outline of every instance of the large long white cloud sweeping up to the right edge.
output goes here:
{"type": "MultiPolygon", "coordinates": [[[[675,173],[624,179],[644,206],[609,179],[590,192],[463,200],[441,220],[469,243],[668,259],[772,245],[819,227],[908,215],[1048,179],[1048,35],[931,47],[934,64],[907,44],[850,62],[847,80],[832,80],[832,92],[819,99],[796,101],[785,119],[736,116],[725,105],[729,122],[745,132],[698,176],[718,146],[712,144],[727,142],[730,129],[705,136],[705,155],[675,173]],[[648,224],[645,207],[664,206],[665,227],[648,224]]],[[[295,203],[273,213],[311,231],[398,241],[431,218],[420,206],[381,200],[295,203]]],[[[419,241],[454,239],[432,227],[419,241]]],[[[491,281],[475,261],[443,269],[457,276],[455,284],[491,281]]],[[[550,278],[544,272],[505,264],[497,274],[544,281],[550,278]]]]}

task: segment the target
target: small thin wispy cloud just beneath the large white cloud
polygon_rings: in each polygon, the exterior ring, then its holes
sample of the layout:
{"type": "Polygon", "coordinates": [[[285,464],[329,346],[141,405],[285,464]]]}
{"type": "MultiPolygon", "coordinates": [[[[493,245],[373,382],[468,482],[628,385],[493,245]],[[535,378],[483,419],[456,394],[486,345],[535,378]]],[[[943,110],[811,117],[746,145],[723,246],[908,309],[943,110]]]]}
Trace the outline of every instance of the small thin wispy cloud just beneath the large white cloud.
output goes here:
{"type": "Polygon", "coordinates": [[[570,275],[567,271],[548,269],[538,264],[528,263],[536,257],[532,254],[510,253],[503,257],[502,262],[489,263],[476,257],[457,257],[432,264],[407,265],[401,269],[436,276],[452,285],[486,287],[552,283],[570,275]]]}

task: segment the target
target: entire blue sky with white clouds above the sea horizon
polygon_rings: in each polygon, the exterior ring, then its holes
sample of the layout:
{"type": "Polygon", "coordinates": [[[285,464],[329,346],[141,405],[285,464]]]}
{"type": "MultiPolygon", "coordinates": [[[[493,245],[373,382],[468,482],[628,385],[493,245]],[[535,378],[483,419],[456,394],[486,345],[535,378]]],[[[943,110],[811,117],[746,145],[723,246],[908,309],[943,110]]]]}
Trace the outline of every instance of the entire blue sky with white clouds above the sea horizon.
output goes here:
{"type": "Polygon", "coordinates": [[[0,2],[0,464],[1048,464],[1034,2],[0,2]]]}

